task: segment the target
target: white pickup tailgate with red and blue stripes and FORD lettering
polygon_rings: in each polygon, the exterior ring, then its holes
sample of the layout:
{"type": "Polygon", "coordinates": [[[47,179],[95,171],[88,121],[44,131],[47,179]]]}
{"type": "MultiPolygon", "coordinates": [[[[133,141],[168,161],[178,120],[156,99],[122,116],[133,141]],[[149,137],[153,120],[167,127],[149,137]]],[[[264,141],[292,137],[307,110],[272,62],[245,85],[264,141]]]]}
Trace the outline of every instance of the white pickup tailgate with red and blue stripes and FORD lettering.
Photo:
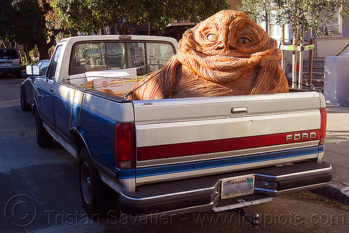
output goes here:
{"type": "Polygon", "coordinates": [[[317,158],[318,92],[133,101],[136,183],[317,158]]]}

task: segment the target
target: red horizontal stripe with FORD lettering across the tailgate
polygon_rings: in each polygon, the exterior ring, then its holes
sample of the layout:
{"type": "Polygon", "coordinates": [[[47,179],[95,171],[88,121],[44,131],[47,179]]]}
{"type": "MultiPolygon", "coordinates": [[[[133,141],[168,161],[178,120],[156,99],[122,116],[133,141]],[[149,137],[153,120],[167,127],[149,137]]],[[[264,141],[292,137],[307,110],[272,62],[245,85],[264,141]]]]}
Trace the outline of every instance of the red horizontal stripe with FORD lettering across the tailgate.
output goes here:
{"type": "Polygon", "coordinates": [[[137,160],[156,160],[167,157],[218,153],[230,150],[242,150],[247,148],[316,140],[320,140],[320,129],[260,136],[246,136],[235,139],[218,139],[159,146],[144,146],[137,148],[137,160]]]}

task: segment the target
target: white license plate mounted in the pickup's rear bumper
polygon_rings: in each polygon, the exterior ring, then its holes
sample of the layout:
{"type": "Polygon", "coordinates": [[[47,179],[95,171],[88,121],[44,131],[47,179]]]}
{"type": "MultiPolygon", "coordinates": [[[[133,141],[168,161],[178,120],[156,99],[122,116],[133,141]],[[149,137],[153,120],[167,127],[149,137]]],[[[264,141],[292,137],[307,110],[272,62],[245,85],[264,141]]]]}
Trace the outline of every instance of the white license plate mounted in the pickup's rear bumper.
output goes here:
{"type": "Polygon", "coordinates": [[[222,181],[221,199],[253,194],[255,176],[237,176],[222,181]]]}

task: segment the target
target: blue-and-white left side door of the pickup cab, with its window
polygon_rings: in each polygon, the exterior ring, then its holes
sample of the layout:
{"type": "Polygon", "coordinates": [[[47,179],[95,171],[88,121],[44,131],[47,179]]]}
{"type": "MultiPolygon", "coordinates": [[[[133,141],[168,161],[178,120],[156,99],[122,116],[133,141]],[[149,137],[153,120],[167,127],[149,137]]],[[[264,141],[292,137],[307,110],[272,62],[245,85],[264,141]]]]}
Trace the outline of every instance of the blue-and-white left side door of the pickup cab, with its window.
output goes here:
{"type": "Polygon", "coordinates": [[[54,127],[54,74],[56,73],[59,55],[62,46],[58,46],[54,51],[53,57],[47,67],[45,78],[36,80],[39,92],[38,100],[40,101],[40,113],[43,119],[54,127]]]}

